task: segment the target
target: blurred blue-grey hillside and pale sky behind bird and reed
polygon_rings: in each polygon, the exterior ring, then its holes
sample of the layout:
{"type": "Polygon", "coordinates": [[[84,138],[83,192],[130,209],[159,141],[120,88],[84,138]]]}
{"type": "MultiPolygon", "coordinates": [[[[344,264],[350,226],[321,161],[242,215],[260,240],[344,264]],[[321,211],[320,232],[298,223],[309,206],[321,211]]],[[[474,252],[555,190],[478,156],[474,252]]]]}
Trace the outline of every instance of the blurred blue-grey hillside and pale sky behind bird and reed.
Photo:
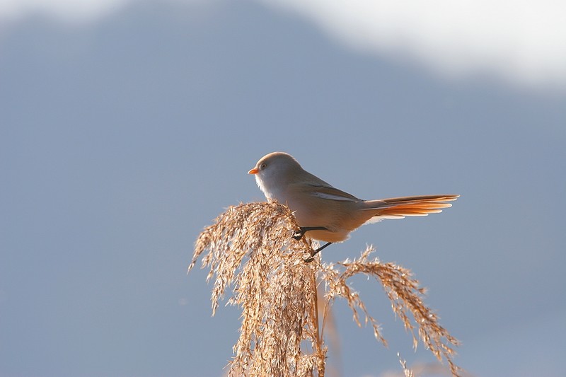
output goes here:
{"type": "MultiPolygon", "coordinates": [[[[221,376],[239,313],[186,267],[271,151],[461,194],[323,259],[412,269],[475,376],[564,376],[565,6],[427,4],[0,1],[0,376],[221,376]]],[[[390,346],[337,302],[343,376],[434,361],[352,284],[390,346]]]]}

